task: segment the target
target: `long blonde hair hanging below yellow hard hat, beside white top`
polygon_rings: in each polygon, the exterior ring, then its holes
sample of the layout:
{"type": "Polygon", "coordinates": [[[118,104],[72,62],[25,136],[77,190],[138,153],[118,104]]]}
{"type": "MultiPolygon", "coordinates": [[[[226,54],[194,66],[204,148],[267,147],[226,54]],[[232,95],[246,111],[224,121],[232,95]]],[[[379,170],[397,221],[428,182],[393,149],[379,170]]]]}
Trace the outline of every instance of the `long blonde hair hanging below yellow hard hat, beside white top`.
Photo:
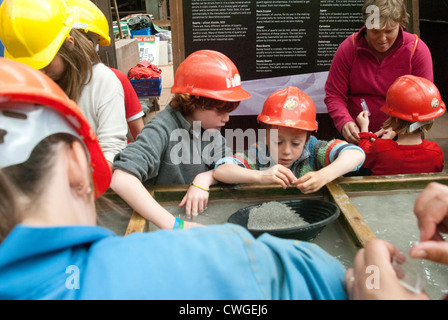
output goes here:
{"type": "Polygon", "coordinates": [[[64,75],[57,83],[70,99],[77,101],[82,88],[91,79],[93,63],[100,63],[101,60],[83,32],[72,29],[70,35],[74,43],[64,41],[57,53],[65,64],[64,75]]]}

